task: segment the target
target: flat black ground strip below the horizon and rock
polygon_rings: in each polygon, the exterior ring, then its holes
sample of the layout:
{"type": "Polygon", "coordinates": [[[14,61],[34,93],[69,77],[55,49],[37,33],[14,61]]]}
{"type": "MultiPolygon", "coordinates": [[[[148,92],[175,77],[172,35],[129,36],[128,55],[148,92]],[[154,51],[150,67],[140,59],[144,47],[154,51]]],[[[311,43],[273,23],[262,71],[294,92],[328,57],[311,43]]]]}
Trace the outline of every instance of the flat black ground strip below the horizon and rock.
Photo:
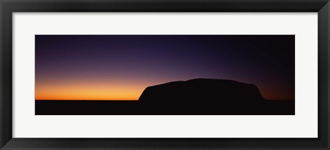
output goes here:
{"type": "Polygon", "coordinates": [[[139,101],[36,101],[36,115],[294,115],[294,101],[228,105],[142,105],[139,101]]]}

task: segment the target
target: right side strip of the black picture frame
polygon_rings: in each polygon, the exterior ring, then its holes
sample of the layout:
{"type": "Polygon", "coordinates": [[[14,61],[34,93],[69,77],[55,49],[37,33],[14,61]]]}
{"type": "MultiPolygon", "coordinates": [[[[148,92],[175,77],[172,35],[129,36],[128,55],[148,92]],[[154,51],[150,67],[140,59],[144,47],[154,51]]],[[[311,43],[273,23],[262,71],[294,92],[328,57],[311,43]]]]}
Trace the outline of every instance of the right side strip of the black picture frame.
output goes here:
{"type": "Polygon", "coordinates": [[[318,137],[329,149],[330,2],[318,11],[318,137]],[[326,132],[324,134],[322,132],[326,132]]]}

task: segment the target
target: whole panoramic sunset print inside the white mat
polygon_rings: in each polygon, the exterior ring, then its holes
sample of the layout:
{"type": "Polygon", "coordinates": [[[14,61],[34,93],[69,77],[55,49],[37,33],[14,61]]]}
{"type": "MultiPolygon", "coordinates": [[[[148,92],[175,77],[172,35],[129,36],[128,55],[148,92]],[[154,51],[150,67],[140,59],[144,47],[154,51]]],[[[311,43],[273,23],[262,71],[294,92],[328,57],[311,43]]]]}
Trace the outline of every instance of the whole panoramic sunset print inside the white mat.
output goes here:
{"type": "Polygon", "coordinates": [[[294,35],[36,35],[36,115],[294,115],[294,35]]]}

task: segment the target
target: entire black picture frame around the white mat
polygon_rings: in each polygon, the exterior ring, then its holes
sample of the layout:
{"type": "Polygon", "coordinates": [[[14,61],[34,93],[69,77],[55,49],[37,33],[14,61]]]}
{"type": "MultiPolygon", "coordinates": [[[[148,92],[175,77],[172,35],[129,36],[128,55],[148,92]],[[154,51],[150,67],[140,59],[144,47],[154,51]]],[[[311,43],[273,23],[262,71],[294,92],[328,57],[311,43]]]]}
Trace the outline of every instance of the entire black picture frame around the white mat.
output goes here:
{"type": "Polygon", "coordinates": [[[0,10],[1,149],[330,148],[329,0],[1,0],[0,10]],[[12,138],[12,12],[318,12],[318,138],[12,138]]]}

